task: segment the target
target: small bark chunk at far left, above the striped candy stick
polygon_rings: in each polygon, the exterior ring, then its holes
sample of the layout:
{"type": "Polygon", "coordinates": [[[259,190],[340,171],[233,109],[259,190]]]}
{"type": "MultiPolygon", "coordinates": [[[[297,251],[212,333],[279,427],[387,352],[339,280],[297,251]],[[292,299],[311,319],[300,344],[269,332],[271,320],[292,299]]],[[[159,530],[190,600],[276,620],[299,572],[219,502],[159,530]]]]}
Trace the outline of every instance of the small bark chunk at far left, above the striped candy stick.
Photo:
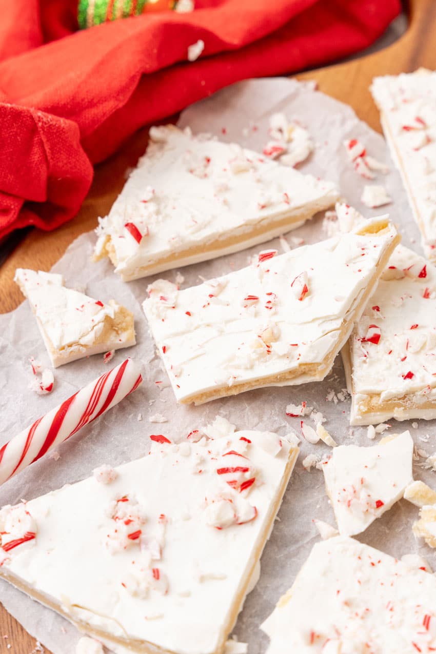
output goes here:
{"type": "Polygon", "coordinates": [[[29,300],[54,368],[92,354],[135,345],[133,314],[110,300],[66,288],[62,275],[17,268],[14,281],[29,300]]]}

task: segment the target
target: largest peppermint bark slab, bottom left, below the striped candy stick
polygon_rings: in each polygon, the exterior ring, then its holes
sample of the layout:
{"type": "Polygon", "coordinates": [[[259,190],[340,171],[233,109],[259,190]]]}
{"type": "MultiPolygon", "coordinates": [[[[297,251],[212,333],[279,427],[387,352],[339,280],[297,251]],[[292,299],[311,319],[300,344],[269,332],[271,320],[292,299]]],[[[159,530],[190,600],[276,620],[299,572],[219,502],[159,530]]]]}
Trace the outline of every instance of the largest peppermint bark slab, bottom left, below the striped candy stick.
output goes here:
{"type": "Polygon", "coordinates": [[[298,445],[293,435],[216,426],[218,438],[175,445],[167,433],[109,477],[99,470],[3,508],[0,576],[110,649],[222,653],[298,445]],[[22,540],[24,529],[31,540],[22,540]]]}

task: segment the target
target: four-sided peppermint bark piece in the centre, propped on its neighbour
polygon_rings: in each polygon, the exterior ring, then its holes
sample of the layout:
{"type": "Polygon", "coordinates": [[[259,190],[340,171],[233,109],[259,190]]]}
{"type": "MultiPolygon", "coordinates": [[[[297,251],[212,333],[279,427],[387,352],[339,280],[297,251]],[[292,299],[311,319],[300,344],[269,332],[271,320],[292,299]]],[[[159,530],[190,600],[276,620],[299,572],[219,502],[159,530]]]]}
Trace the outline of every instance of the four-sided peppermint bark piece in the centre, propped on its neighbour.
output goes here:
{"type": "Polygon", "coordinates": [[[178,402],[324,379],[398,240],[384,216],[186,290],[153,283],[144,312],[178,402]]]}

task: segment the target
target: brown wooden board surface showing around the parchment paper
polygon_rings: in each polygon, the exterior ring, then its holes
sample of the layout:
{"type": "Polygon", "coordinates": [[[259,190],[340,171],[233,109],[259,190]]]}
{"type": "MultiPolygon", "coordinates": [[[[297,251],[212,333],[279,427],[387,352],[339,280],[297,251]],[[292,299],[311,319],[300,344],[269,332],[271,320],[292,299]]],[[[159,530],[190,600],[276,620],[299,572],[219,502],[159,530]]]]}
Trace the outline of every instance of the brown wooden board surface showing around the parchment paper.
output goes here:
{"type": "MultiPolygon", "coordinates": [[[[411,0],[409,28],[393,45],[369,56],[302,73],[299,79],[318,82],[324,93],[353,107],[359,118],[380,131],[378,111],[369,94],[376,75],[411,72],[420,66],[436,69],[436,0],[411,0]]],[[[74,220],[55,232],[33,230],[0,269],[0,312],[12,311],[22,301],[13,277],[17,267],[49,270],[68,245],[97,225],[108,213],[124,185],[126,168],[134,166],[147,143],[147,129],[136,133],[107,162],[97,166],[92,188],[74,220]]],[[[0,654],[30,654],[35,640],[0,606],[0,654]]]]}

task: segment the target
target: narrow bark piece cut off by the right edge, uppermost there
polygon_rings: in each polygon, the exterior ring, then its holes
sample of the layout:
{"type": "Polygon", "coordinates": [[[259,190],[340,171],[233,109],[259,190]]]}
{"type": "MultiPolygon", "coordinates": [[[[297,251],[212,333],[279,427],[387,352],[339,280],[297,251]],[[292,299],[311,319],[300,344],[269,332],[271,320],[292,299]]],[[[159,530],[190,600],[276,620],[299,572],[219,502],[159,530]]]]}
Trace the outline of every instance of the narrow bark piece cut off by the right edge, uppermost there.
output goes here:
{"type": "Polygon", "coordinates": [[[436,260],[436,73],[376,77],[371,92],[426,256],[436,260]]]}

